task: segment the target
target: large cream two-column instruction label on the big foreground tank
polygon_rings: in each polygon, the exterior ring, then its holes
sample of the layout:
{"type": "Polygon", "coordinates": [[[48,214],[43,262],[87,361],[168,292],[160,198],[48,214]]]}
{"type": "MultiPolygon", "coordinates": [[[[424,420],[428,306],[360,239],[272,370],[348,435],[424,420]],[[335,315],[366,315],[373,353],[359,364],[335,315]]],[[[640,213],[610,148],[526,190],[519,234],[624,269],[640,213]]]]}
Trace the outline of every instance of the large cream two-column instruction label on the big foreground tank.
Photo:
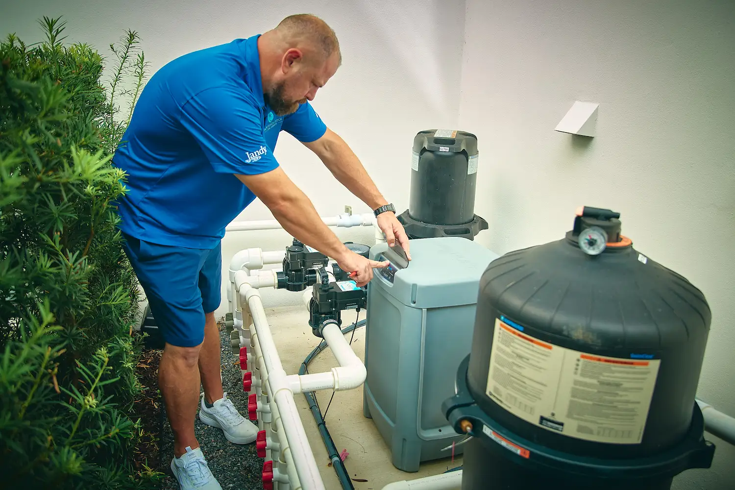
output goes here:
{"type": "Polygon", "coordinates": [[[543,342],[499,318],[487,396],[534,425],[612,444],[643,438],[659,359],[597,356],[543,342]]]}

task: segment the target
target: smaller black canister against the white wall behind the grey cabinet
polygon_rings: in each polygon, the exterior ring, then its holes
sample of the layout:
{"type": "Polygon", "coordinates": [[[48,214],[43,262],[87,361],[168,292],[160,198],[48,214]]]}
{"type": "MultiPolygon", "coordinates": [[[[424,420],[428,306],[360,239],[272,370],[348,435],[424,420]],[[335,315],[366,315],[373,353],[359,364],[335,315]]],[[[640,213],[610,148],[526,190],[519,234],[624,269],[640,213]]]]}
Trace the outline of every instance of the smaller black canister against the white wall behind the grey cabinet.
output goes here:
{"type": "Polygon", "coordinates": [[[487,229],[475,215],[477,137],[454,129],[414,137],[409,209],[398,220],[409,238],[474,239],[487,229]]]}

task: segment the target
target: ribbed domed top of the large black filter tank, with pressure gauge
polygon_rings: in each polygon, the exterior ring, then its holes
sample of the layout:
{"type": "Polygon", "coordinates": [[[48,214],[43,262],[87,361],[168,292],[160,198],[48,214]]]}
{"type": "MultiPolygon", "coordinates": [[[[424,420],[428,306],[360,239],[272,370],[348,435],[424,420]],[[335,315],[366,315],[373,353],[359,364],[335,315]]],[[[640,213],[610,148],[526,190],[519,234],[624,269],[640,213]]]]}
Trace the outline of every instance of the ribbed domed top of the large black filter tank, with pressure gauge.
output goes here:
{"type": "Polygon", "coordinates": [[[493,261],[478,301],[579,350],[659,349],[705,334],[703,293],[637,251],[621,228],[619,213],[585,206],[564,239],[493,261]]]}

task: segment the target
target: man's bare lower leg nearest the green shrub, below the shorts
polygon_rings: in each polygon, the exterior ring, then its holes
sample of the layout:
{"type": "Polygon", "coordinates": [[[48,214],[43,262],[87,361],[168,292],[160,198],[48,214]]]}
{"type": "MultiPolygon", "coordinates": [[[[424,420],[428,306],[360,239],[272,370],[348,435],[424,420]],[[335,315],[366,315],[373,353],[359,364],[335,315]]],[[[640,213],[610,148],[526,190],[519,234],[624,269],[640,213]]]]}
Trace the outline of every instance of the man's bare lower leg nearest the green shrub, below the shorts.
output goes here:
{"type": "Polygon", "coordinates": [[[194,436],[194,418],[199,405],[200,347],[176,347],[167,343],[158,367],[158,385],[173,431],[176,458],[186,453],[187,446],[199,447],[194,436]]]}

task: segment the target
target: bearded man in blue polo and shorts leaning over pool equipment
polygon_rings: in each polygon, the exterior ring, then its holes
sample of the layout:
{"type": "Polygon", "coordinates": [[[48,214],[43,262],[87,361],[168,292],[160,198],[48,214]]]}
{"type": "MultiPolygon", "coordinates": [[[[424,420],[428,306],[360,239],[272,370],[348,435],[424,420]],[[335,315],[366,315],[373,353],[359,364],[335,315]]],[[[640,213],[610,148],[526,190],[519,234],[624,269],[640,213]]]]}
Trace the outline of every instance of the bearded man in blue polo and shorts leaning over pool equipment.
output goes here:
{"type": "Polygon", "coordinates": [[[387,263],[348,250],[273,157],[287,131],[367,203],[390,245],[404,228],[348,145],[312,109],[341,63],[337,37],[312,15],[169,62],[146,84],[113,159],[129,192],[118,202],[125,251],[165,338],[159,386],[182,489],[221,489],[194,436],[202,422],[236,444],[257,427],[223,392],[214,311],[221,301],[225,226],[257,197],[284,229],[354,272],[359,285],[387,263]],[[198,398],[199,386],[204,396],[198,398]]]}

